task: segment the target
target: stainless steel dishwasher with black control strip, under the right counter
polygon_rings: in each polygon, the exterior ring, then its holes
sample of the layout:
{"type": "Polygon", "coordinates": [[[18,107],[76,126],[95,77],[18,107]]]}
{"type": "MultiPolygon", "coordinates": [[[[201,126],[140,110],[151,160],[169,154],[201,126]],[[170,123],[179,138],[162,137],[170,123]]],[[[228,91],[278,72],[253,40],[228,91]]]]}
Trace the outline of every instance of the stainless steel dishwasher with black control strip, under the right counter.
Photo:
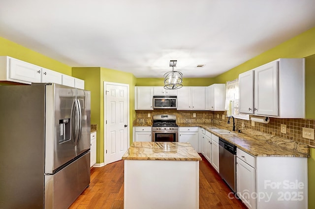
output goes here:
{"type": "Polygon", "coordinates": [[[221,178],[236,192],[236,146],[219,138],[219,173],[221,178]]]}

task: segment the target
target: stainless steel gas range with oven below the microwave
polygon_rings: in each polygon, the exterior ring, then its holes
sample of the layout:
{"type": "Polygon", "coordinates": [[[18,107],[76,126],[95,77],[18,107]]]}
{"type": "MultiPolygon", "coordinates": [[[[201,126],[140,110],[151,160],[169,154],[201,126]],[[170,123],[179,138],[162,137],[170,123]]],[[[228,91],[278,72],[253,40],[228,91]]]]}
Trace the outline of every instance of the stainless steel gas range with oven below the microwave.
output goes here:
{"type": "Polygon", "coordinates": [[[154,115],[152,136],[154,142],[178,142],[176,115],[154,115]]]}

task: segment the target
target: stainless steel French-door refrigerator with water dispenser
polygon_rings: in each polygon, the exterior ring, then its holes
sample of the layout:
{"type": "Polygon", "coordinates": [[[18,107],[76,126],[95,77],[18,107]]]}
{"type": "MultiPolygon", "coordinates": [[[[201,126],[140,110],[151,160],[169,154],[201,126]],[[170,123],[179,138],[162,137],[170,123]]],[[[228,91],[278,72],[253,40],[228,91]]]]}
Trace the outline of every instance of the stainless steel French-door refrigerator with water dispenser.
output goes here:
{"type": "Polygon", "coordinates": [[[0,209],[66,209],[90,184],[91,93],[0,86],[0,209]]]}

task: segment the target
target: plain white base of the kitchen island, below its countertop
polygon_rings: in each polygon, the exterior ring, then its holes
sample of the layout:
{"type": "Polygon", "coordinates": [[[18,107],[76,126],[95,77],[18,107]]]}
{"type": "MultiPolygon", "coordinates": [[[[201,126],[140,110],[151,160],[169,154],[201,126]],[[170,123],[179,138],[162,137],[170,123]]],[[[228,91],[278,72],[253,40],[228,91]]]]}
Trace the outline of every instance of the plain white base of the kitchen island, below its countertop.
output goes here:
{"type": "Polygon", "coordinates": [[[124,209],[198,209],[199,161],[125,160],[124,209]]]}

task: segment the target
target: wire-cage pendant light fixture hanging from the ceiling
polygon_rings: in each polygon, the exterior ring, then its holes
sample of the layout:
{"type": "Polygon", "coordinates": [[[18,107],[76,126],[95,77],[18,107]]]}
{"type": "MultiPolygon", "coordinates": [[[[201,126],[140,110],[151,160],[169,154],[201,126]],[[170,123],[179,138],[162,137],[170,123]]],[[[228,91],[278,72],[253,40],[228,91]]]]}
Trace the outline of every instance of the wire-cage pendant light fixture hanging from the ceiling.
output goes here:
{"type": "Polygon", "coordinates": [[[165,89],[179,89],[183,87],[183,74],[179,71],[174,71],[177,60],[170,60],[169,66],[172,71],[164,74],[164,88],[165,89]]]}

